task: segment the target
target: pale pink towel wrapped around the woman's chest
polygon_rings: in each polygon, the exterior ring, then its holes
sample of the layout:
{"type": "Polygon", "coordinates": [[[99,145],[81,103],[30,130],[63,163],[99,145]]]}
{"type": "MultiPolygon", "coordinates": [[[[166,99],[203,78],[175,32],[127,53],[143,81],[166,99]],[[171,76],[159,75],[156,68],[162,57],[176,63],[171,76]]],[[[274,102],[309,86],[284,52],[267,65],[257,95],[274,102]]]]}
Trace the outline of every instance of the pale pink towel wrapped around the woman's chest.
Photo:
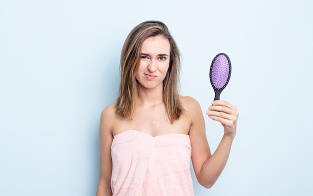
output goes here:
{"type": "Polygon", "coordinates": [[[187,134],[116,134],[111,145],[115,195],[193,195],[187,134]]]}

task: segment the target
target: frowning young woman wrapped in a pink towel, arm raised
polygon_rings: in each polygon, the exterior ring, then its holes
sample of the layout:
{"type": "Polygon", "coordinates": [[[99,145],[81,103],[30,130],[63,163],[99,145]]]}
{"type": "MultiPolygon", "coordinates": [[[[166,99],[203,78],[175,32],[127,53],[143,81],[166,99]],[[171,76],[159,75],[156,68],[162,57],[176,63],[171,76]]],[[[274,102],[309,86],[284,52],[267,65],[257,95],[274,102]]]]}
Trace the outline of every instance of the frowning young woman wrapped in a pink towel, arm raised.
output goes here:
{"type": "Polygon", "coordinates": [[[199,103],[177,90],[180,56],[160,21],[127,36],[120,58],[116,103],[100,119],[100,195],[193,195],[190,157],[198,182],[211,187],[236,133],[235,106],[215,100],[206,114],[224,135],[211,154],[199,103]]]}

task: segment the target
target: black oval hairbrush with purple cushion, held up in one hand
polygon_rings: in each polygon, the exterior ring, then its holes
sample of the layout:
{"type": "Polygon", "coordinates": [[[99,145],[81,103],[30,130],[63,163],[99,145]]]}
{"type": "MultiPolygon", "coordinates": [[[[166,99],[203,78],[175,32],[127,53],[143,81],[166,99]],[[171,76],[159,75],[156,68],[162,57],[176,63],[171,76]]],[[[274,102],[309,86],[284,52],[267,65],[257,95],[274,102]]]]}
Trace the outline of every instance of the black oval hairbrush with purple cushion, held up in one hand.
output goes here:
{"type": "Polygon", "coordinates": [[[219,100],[220,92],[227,85],[231,73],[230,59],[225,53],[217,54],[210,66],[210,81],[215,92],[214,100],[219,100]]]}

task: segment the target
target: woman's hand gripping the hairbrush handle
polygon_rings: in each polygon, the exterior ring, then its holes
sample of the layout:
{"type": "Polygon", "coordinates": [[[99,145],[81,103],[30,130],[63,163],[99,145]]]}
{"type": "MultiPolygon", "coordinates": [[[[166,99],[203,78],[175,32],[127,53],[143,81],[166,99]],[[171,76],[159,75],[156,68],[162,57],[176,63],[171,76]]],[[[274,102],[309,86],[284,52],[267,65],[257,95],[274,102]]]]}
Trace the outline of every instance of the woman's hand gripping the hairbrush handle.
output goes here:
{"type": "Polygon", "coordinates": [[[237,107],[223,100],[214,100],[206,111],[208,117],[220,122],[224,127],[225,136],[236,134],[238,111],[237,107]]]}

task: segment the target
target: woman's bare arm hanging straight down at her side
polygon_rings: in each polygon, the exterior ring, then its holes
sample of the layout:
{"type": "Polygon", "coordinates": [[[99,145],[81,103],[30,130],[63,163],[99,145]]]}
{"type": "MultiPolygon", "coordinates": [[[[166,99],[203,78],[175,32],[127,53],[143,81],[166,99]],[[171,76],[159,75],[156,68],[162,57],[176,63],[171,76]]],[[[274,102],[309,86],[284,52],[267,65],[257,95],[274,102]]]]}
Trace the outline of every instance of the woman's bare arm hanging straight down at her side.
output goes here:
{"type": "Polygon", "coordinates": [[[112,173],[111,144],[113,140],[112,136],[113,116],[114,116],[113,105],[108,105],[106,108],[103,109],[101,113],[99,127],[100,178],[96,191],[97,196],[112,195],[110,180],[112,173]]]}

